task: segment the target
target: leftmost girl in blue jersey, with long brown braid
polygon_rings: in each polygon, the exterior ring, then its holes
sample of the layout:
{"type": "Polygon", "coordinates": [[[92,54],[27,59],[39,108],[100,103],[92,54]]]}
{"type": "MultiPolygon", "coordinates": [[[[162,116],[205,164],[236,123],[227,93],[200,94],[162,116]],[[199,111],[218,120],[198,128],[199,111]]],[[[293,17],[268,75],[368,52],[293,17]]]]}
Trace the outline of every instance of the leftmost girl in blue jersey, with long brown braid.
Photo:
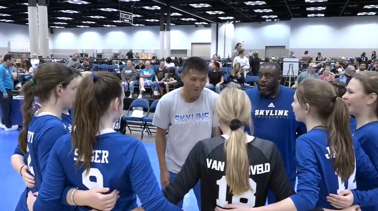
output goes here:
{"type": "MultiPolygon", "coordinates": [[[[27,193],[39,190],[50,150],[55,141],[67,133],[61,114],[72,105],[76,86],[77,80],[72,70],[60,63],[48,63],[39,67],[33,78],[23,86],[24,125],[18,145],[27,157],[28,171],[34,176],[35,183],[34,187],[26,187],[16,211],[28,210],[27,193]],[[38,97],[42,106],[34,113],[35,97],[38,97]]],[[[22,172],[23,168],[26,165],[17,166],[16,169],[22,172]]]]}

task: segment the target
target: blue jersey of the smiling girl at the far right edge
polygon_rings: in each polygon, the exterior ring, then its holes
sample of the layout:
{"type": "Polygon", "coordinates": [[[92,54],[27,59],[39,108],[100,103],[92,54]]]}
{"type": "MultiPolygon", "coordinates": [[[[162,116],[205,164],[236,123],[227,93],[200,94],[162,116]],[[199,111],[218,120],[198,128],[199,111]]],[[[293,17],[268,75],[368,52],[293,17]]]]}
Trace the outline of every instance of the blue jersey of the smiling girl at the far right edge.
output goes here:
{"type": "MultiPolygon", "coordinates": [[[[361,144],[361,148],[369,156],[375,168],[378,169],[378,122],[368,123],[358,129],[352,128],[353,138],[357,139],[361,144]]],[[[357,175],[357,189],[361,191],[376,188],[372,183],[367,181],[363,175],[357,175]]],[[[361,204],[361,205],[365,205],[361,204]]],[[[363,211],[378,210],[378,206],[361,206],[363,211]]]]}

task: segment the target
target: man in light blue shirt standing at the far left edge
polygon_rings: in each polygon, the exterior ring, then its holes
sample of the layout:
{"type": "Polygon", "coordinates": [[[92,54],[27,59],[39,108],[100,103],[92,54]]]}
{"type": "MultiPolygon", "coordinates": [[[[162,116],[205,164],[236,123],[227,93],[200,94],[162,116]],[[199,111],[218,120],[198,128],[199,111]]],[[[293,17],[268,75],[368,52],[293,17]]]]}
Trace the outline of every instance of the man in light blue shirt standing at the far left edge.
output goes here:
{"type": "Polygon", "coordinates": [[[4,62],[0,65],[0,107],[2,108],[2,119],[0,128],[5,131],[15,131],[18,125],[12,125],[12,101],[13,101],[13,66],[12,55],[6,54],[3,58],[4,62]]]}

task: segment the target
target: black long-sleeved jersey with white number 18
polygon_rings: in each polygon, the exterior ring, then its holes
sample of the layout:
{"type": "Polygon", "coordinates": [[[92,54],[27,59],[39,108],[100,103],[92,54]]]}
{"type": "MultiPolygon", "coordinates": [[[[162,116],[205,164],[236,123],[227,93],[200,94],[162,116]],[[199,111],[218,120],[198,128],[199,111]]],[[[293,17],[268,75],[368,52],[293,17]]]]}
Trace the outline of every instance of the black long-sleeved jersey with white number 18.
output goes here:
{"type": "Polygon", "coordinates": [[[199,179],[202,211],[213,211],[215,206],[223,207],[228,203],[264,206],[268,187],[275,193],[277,201],[295,194],[276,145],[267,140],[249,138],[247,150],[251,190],[241,195],[230,193],[225,179],[225,139],[214,137],[199,141],[190,151],[175,180],[163,191],[167,200],[177,204],[199,179]]]}

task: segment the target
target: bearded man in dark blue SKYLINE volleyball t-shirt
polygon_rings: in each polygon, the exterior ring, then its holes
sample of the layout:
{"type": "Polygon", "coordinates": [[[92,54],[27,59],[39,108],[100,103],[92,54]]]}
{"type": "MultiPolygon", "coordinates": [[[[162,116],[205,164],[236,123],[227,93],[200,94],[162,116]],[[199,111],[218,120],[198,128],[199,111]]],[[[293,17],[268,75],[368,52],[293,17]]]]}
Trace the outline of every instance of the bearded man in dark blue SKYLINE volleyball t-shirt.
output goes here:
{"type": "MultiPolygon", "coordinates": [[[[306,126],[295,120],[291,103],[295,89],[280,85],[281,67],[275,62],[266,62],[259,69],[257,87],[247,89],[252,103],[253,135],[272,141],[281,153],[288,178],[293,187],[296,178],[295,140],[306,133],[306,126]]],[[[249,129],[246,128],[248,132],[249,129]]],[[[276,202],[268,192],[268,203],[276,202]]]]}

